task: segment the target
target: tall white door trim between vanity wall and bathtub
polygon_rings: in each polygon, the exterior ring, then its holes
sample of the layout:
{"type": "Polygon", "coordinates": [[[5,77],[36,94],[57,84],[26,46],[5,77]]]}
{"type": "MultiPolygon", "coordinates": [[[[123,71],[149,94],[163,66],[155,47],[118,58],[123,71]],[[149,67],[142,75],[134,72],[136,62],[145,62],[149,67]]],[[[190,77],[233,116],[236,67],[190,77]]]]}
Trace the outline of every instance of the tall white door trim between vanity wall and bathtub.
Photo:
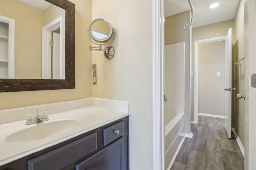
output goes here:
{"type": "Polygon", "coordinates": [[[164,170],[164,2],[152,4],[153,170],[164,170]]]}

